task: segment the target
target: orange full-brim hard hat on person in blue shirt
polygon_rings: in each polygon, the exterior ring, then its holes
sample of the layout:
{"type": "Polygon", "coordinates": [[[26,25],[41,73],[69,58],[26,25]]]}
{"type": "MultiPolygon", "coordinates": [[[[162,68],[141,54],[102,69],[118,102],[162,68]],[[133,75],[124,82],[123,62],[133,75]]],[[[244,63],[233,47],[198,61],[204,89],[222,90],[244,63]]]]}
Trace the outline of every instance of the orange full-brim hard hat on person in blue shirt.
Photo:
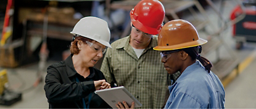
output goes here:
{"type": "Polygon", "coordinates": [[[158,38],[157,51],[178,50],[196,47],[207,43],[200,39],[196,28],[186,20],[171,20],[161,29],[158,38]]]}

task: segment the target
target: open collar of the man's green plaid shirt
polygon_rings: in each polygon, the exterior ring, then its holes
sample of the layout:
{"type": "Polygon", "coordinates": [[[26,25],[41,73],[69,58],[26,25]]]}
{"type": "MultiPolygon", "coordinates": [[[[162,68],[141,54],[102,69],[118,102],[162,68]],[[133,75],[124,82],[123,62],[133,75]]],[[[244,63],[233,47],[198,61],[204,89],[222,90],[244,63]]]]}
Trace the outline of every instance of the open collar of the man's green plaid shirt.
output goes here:
{"type": "MultiPolygon", "coordinates": [[[[130,36],[127,36],[125,37],[123,40],[125,40],[125,43],[120,43],[119,45],[117,45],[117,49],[120,49],[120,48],[128,48],[130,46],[129,42],[130,42],[130,39],[131,39],[131,35],[130,36]]],[[[154,48],[157,46],[157,36],[152,36],[151,38],[151,42],[149,43],[149,47],[147,47],[146,49],[149,49],[149,48],[154,48]],[[155,40],[153,40],[155,39],[155,40]]]]}

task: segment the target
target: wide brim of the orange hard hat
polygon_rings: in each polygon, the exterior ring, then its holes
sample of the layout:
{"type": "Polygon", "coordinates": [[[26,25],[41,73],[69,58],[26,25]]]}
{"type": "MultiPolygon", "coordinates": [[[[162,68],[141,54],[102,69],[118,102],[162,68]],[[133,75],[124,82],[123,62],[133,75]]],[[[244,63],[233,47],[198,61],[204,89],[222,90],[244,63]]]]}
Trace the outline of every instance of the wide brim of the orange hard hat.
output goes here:
{"type": "Polygon", "coordinates": [[[157,47],[154,47],[153,49],[157,50],[157,51],[179,50],[179,49],[182,49],[182,48],[190,48],[190,47],[196,47],[196,46],[199,46],[199,45],[204,45],[205,43],[207,43],[207,40],[199,38],[198,40],[193,41],[193,42],[181,43],[181,44],[178,44],[178,45],[164,46],[164,47],[163,46],[157,46],[157,47]]]}

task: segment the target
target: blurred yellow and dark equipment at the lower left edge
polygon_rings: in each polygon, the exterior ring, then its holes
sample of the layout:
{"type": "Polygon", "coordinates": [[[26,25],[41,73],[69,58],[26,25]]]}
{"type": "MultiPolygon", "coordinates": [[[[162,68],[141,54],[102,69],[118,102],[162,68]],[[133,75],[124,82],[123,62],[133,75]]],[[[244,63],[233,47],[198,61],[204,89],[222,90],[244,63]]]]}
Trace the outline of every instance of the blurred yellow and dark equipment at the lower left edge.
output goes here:
{"type": "Polygon", "coordinates": [[[19,92],[9,91],[7,70],[0,71],[0,105],[12,105],[22,99],[22,94],[19,92]]]}

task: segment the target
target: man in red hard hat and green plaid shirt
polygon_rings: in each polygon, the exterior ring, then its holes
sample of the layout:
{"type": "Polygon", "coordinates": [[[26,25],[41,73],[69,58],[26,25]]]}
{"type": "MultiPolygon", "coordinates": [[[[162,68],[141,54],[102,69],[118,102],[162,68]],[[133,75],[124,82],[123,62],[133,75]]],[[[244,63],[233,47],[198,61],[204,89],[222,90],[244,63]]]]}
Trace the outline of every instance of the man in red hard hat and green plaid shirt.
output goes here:
{"type": "MultiPolygon", "coordinates": [[[[164,17],[160,1],[139,1],[130,12],[130,36],[113,42],[102,62],[101,71],[112,87],[125,86],[142,104],[141,108],[163,108],[168,81],[179,76],[179,73],[168,75],[160,62],[160,51],[153,50],[164,17]]],[[[122,108],[122,103],[119,104],[117,108],[122,108]]]]}

